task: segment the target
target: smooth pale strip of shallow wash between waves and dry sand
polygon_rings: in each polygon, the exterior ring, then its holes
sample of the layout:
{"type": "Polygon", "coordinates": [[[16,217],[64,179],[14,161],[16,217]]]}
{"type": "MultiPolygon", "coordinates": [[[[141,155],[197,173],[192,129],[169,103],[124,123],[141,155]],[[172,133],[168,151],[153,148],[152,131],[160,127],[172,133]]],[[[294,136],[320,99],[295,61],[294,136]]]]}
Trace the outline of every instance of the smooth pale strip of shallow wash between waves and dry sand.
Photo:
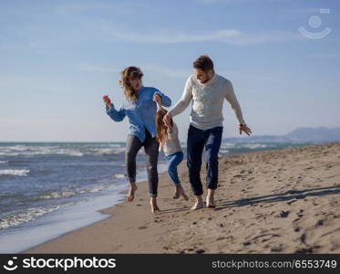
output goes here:
{"type": "MultiPolygon", "coordinates": [[[[160,163],[160,170],[164,169],[164,163],[160,163]]],[[[137,184],[145,182],[146,178],[147,173],[143,169],[137,184]]],[[[2,243],[0,253],[22,253],[29,248],[35,248],[67,233],[105,220],[110,216],[102,211],[124,202],[125,193],[129,189],[124,183],[122,181],[113,184],[104,190],[102,195],[61,207],[38,216],[33,221],[5,229],[0,235],[2,243]]]]}

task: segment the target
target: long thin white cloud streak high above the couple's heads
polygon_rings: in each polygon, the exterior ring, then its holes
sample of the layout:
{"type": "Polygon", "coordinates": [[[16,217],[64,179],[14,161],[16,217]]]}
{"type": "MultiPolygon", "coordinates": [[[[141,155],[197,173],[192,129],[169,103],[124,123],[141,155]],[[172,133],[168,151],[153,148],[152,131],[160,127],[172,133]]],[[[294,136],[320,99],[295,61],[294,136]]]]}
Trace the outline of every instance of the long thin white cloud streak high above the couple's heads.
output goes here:
{"type": "Polygon", "coordinates": [[[197,34],[170,31],[135,33],[128,31],[118,31],[115,29],[112,31],[112,35],[119,40],[154,44],[221,42],[234,46],[246,46],[263,44],[266,42],[301,40],[301,36],[298,33],[293,32],[246,33],[238,29],[222,29],[197,34]]]}

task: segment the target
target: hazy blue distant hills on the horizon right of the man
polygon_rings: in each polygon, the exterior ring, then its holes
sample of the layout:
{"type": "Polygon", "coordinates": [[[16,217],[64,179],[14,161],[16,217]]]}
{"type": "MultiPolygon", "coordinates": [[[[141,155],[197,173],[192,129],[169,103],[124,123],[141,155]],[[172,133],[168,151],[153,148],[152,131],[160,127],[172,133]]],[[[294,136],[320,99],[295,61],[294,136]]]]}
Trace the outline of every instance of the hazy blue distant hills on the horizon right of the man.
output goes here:
{"type": "Polygon", "coordinates": [[[340,128],[297,128],[285,135],[226,138],[223,142],[340,142],[340,128]]]}

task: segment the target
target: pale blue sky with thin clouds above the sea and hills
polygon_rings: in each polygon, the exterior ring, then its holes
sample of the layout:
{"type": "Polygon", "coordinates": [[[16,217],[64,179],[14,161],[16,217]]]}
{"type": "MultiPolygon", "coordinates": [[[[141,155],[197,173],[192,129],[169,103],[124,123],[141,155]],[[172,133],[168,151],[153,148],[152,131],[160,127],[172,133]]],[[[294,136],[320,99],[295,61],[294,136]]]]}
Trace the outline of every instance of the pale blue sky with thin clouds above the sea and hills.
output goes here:
{"type": "MultiPolygon", "coordinates": [[[[340,127],[339,13],[336,0],[0,0],[0,142],[125,141],[128,120],[101,99],[122,102],[118,72],[139,66],[176,102],[201,54],[255,135],[340,127]]],[[[189,113],[175,118],[183,141],[189,113]]],[[[223,115],[223,137],[238,136],[227,102],[223,115]]]]}

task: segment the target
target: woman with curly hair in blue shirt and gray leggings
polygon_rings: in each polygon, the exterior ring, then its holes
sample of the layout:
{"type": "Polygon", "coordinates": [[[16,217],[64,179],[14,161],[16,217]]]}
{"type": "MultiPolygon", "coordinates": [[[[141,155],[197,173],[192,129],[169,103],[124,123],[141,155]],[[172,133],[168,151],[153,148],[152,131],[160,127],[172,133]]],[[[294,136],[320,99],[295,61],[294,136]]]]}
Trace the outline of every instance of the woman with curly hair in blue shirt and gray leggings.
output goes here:
{"type": "Polygon", "coordinates": [[[157,106],[160,103],[165,107],[171,105],[169,97],[160,90],[142,85],[143,73],[140,68],[129,67],[120,72],[119,84],[124,90],[125,100],[121,107],[116,110],[115,106],[105,96],[104,102],[108,116],[113,121],[123,121],[129,118],[129,134],[125,150],[126,173],[129,180],[129,193],[127,200],[133,201],[136,185],[136,156],[141,147],[146,153],[146,168],[149,183],[149,196],[151,211],[160,211],[157,205],[157,189],[159,174],[157,162],[159,157],[160,143],[156,140],[155,118],[157,106]]]}

